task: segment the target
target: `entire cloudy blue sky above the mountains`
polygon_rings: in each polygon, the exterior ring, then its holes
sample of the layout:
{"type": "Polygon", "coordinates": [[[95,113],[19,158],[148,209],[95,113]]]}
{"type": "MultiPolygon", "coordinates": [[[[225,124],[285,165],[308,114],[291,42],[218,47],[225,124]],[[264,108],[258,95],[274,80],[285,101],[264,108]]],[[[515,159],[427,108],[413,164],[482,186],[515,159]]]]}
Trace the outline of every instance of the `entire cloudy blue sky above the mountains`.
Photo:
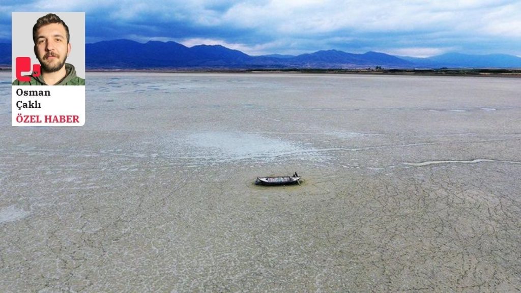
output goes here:
{"type": "Polygon", "coordinates": [[[2,0],[11,12],[84,11],[86,41],[221,44],[250,55],[336,49],[426,57],[447,52],[521,56],[521,1],[508,0],[2,0]],[[37,8],[37,9],[36,9],[37,8]]]}

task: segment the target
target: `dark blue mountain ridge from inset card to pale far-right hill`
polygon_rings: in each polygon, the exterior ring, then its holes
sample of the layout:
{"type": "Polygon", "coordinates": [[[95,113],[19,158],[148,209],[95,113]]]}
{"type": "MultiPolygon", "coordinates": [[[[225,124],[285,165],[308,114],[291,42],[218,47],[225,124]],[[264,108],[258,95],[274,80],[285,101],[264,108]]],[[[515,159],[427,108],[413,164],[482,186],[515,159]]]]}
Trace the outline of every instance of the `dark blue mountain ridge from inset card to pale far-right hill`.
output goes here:
{"type": "Polygon", "coordinates": [[[129,40],[86,44],[88,68],[411,68],[391,55],[368,52],[318,51],[299,56],[250,56],[220,45],[186,47],[176,42],[138,43],[129,40]]]}

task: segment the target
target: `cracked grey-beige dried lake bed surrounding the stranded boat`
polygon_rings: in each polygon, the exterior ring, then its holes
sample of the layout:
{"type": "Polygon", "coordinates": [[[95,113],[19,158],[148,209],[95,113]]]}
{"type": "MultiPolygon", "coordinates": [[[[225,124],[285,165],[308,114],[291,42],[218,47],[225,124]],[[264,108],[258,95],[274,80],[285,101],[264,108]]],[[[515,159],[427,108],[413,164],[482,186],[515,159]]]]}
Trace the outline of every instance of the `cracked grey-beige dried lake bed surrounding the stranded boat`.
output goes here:
{"type": "Polygon", "coordinates": [[[521,288],[517,78],[88,73],[67,128],[0,77],[2,292],[521,288]]]}

